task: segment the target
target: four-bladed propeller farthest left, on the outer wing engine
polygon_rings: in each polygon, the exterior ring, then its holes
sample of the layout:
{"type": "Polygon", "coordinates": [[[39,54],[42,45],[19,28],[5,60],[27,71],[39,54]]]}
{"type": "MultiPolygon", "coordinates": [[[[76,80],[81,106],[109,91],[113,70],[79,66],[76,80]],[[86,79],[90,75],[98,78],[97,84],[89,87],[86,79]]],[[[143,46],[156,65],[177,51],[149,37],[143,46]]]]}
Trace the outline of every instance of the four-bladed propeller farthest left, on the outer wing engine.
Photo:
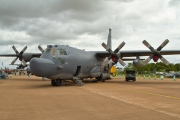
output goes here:
{"type": "Polygon", "coordinates": [[[26,66],[26,62],[23,59],[23,53],[24,51],[27,49],[27,46],[25,46],[22,51],[19,53],[17,51],[17,49],[15,48],[15,46],[12,46],[13,50],[15,51],[17,57],[11,62],[12,65],[14,65],[14,63],[16,62],[16,60],[19,58],[19,60],[23,63],[24,66],[26,66]]]}

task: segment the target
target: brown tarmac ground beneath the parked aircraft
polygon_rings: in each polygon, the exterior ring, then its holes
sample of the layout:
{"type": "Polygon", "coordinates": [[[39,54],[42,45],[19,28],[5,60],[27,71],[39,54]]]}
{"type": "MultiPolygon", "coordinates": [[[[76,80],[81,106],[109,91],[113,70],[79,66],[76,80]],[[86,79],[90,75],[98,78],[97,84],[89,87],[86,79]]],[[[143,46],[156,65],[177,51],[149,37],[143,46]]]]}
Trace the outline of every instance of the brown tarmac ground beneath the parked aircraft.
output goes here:
{"type": "Polygon", "coordinates": [[[180,79],[104,83],[12,76],[0,80],[0,120],[180,120],[180,79]]]}

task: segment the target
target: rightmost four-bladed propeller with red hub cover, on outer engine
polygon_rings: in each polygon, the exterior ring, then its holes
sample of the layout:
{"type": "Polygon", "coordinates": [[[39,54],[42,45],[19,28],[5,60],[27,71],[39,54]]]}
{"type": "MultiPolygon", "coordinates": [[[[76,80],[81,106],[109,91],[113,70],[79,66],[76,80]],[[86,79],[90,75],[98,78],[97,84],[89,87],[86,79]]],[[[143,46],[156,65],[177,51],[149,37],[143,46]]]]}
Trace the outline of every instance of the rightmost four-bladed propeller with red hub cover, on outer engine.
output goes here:
{"type": "Polygon", "coordinates": [[[146,40],[143,40],[143,44],[152,51],[152,54],[144,61],[146,65],[152,58],[155,62],[160,58],[161,61],[168,65],[169,62],[160,54],[161,49],[168,44],[169,40],[166,39],[157,49],[154,49],[146,40]]]}

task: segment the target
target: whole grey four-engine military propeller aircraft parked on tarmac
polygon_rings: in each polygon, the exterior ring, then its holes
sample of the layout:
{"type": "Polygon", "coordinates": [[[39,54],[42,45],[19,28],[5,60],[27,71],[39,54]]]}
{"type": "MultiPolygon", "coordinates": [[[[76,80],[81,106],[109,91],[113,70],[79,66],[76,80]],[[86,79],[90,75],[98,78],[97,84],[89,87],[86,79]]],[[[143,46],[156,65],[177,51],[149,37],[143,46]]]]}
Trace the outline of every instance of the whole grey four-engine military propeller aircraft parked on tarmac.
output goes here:
{"type": "Polygon", "coordinates": [[[154,49],[144,40],[143,44],[148,47],[150,51],[120,51],[125,45],[125,42],[122,42],[112,51],[111,29],[109,29],[107,45],[102,43],[106,51],[85,51],[68,45],[48,45],[46,50],[43,50],[41,46],[38,47],[42,53],[24,53],[27,46],[19,53],[15,47],[13,47],[16,52],[16,54],[14,54],[16,58],[11,64],[14,64],[18,58],[24,65],[26,65],[26,62],[30,61],[31,73],[39,77],[51,79],[52,86],[62,85],[63,80],[73,80],[78,85],[83,85],[84,78],[96,78],[102,82],[110,79],[110,69],[117,62],[125,66],[124,61],[133,61],[135,67],[141,67],[147,64],[151,59],[153,59],[154,62],[161,59],[163,63],[168,65],[169,62],[162,55],[180,54],[180,50],[161,51],[168,42],[169,40],[166,39],[157,49],[154,49]],[[149,57],[142,62],[143,59],[140,59],[140,56],[149,57]],[[136,58],[131,59],[128,57],[136,58]]]}

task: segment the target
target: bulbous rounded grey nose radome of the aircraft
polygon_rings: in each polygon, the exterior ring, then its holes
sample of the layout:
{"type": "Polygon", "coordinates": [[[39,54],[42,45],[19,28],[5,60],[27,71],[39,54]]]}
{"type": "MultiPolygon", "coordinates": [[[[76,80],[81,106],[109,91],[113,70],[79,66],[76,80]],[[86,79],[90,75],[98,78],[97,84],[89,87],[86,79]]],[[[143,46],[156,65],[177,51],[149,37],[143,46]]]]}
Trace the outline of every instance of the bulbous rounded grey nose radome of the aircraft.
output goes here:
{"type": "Polygon", "coordinates": [[[49,77],[53,75],[55,64],[53,61],[45,58],[32,58],[30,61],[32,74],[39,77],[49,77]]]}

